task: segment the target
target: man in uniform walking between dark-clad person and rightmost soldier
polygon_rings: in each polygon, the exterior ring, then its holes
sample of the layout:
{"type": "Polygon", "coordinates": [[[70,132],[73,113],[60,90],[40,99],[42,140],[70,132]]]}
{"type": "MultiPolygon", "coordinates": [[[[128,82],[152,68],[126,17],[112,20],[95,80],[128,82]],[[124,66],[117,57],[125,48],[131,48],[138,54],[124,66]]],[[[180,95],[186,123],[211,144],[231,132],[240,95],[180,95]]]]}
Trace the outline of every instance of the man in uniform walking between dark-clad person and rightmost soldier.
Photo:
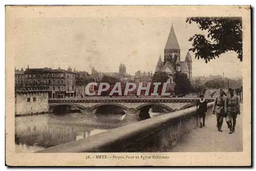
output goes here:
{"type": "Polygon", "coordinates": [[[223,118],[225,117],[227,125],[230,129],[229,133],[232,134],[232,127],[227,117],[227,97],[224,96],[223,90],[221,90],[220,95],[215,98],[212,114],[216,115],[218,131],[222,132],[221,126],[223,123],[223,118]]]}

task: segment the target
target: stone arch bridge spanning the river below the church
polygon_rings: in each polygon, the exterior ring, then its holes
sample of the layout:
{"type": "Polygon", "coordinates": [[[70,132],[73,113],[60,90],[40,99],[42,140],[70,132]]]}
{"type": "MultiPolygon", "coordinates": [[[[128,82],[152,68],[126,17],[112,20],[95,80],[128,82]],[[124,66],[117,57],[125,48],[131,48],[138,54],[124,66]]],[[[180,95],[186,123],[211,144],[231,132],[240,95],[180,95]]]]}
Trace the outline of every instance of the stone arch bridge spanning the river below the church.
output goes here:
{"type": "MultiPolygon", "coordinates": [[[[169,112],[194,106],[198,98],[98,98],[98,99],[49,99],[50,110],[55,106],[76,106],[85,113],[95,113],[100,106],[114,105],[123,109],[125,114],[138,115],[146,106],[162,106],[169,112]]],[[[214,101],[212,98],[207,101],[214,101]]]]}

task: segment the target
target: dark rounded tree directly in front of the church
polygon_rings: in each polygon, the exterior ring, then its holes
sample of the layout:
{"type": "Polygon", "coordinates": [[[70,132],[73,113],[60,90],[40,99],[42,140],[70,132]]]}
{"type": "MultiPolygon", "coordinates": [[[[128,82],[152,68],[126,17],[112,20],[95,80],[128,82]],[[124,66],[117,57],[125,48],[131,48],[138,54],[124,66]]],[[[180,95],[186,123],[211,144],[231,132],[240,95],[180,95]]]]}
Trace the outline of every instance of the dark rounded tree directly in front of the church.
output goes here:
{"type": "Polygon", "coordinates": [[[175,73],[174,82],[175,82],[174,91],[176,95],[179,95],[179,94],[185,95],[191,91],[191,84],[189,82],[187,74],[179,73],[179,72],[175,73]]]}

